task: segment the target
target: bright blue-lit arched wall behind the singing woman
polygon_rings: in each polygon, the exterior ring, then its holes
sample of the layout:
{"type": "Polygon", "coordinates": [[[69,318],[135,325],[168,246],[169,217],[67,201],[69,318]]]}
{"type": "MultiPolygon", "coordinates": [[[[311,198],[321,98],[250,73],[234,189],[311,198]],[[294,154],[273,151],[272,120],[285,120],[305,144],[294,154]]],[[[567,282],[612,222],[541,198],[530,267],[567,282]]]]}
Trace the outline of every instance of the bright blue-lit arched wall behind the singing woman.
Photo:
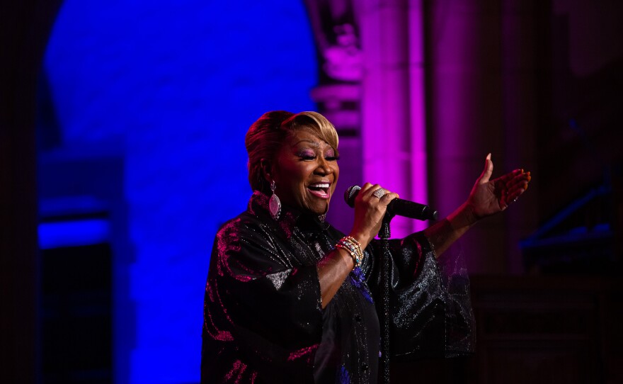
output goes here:
{"type": "Polygon", "coordinates": [[[55,122],[42,130],[56,126],[58,144],[43,143],[41,161],[122,159],[115,382],[198,381],[212,239],[251,195],[244,134],[265,111],[314,109],[303,5],[65,1],[44,74],[55,122]]]}

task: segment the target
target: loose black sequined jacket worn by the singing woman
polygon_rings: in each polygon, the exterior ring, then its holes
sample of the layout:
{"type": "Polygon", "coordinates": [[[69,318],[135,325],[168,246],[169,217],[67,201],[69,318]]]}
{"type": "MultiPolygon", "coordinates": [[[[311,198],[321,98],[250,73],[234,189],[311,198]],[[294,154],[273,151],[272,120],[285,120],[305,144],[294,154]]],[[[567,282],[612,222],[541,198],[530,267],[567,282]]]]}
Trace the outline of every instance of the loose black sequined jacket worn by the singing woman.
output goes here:
{"type": "MultiPolygon", "coordinates": [[[[343,234],[268,196],[217,233],[205,287],[201,383],[377,383],[377,240],[324,310],[316,264],[343,234]]],[[[392,358],[473,349],[469,280],[416,233],[391,239],[392,358]]]]}

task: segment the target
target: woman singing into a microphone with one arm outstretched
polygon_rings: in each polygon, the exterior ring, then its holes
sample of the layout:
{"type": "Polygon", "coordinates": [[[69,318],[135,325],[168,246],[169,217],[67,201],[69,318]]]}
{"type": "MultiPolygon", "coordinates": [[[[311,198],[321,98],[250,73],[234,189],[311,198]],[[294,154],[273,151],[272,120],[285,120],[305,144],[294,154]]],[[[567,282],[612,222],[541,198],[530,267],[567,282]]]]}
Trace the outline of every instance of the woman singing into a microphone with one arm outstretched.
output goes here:
{"type": "MultiPolygon", "coordinates": [[[[324,116],[268,112],[245,142],[253,195],[215,238],[201,382],[377,383],[381,249],[375,236],[398,195],[365,183],[345,236],[324,220],[340,174],[338,135],[324,116]]],[[[473,351],[469,282],[444,276],[438,258],[478,220],[505,210],[530,181],[520,169],[490,180],[492,171],[487,156],[454,213],[389,240],[392,356],[473,351]]]]}

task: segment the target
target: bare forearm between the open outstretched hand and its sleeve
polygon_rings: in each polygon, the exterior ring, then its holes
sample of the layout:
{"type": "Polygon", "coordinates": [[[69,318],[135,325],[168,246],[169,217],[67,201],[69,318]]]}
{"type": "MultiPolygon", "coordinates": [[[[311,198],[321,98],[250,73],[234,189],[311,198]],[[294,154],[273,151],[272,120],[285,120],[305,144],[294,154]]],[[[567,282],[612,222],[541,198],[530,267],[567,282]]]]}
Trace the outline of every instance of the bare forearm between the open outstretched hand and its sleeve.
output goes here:
{"type": "Polygon", "coordinates": [[[424,235],[435,249],[435,256],[439,257],[475,223],[473,210],[467,203],[464,203],[444,220],[435,222],[426,228],[424,235]]]}

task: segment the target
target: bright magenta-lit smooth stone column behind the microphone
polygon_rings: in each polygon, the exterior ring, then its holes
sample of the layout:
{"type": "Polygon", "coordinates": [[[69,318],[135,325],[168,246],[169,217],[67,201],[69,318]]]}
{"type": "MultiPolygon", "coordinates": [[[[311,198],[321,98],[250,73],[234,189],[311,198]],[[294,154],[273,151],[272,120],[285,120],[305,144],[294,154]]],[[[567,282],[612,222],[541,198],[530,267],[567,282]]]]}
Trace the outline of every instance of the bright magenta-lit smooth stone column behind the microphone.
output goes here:
{"type": "MultiPolygon", "coordinates": [[[[426,202],[421,1],[361,0],[362,149],[365,181],[426,202]]],[[[392,237],[423,223],[400,217],[392,237]]]]}

